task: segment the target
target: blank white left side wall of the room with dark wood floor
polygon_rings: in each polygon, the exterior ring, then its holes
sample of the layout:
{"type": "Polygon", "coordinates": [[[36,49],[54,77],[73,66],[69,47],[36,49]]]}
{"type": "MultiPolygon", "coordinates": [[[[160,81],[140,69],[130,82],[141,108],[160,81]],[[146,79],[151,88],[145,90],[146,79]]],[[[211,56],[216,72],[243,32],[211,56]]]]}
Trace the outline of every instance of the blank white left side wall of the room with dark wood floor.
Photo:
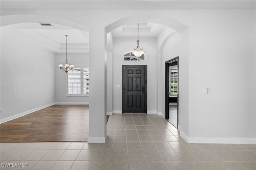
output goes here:
{"type": "Polygon", "coordinates": [[[16,25],[1,27],[1,122],[54,103],[54,61],[16,25]]]}

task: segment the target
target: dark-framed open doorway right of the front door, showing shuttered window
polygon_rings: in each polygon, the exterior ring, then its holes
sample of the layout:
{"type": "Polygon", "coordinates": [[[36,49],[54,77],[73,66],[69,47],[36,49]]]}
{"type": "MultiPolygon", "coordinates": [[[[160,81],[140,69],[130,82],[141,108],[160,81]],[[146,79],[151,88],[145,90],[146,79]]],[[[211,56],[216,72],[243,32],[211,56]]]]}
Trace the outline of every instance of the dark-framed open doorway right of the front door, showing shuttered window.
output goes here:
{"type": "Polygon", "coordinates": [[[175,57],[165,62],[165,119],[178,128],[178,62],[175,57]]]}

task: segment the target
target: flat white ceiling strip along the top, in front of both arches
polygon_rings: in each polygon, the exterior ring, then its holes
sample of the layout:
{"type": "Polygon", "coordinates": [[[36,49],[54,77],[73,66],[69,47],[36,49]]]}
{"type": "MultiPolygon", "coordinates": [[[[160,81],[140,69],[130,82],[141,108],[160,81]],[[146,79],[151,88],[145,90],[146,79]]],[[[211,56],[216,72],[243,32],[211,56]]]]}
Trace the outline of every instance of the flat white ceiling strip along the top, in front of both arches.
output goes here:
{"type": "Polygon", "coordinates": [[[1,0],[1,9],[255,9],[255,0],[1,0]],[[136,4],[136,5],[134,5],[136,4]]]}

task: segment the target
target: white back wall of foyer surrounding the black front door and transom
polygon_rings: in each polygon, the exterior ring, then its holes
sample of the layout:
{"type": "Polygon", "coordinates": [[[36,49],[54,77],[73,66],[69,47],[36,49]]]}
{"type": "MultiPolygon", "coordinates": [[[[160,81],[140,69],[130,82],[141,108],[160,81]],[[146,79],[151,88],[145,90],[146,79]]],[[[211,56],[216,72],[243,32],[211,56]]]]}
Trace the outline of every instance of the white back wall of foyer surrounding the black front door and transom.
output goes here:
{"type": "Polygon", "coordinates": [[[124,61],[124,54],[136,47],[134,38],[113,38],[113,113],[122,113],[122,65],[147,65],[147,113],[157,113],[157,48],[156,38],[140,38],[140,47],[146,54],[145,61],[124,61]],[[120,85],[117,88],[116,85],[120,85]],[[116,103],[116,105],[115,105],[116,103]]]}

